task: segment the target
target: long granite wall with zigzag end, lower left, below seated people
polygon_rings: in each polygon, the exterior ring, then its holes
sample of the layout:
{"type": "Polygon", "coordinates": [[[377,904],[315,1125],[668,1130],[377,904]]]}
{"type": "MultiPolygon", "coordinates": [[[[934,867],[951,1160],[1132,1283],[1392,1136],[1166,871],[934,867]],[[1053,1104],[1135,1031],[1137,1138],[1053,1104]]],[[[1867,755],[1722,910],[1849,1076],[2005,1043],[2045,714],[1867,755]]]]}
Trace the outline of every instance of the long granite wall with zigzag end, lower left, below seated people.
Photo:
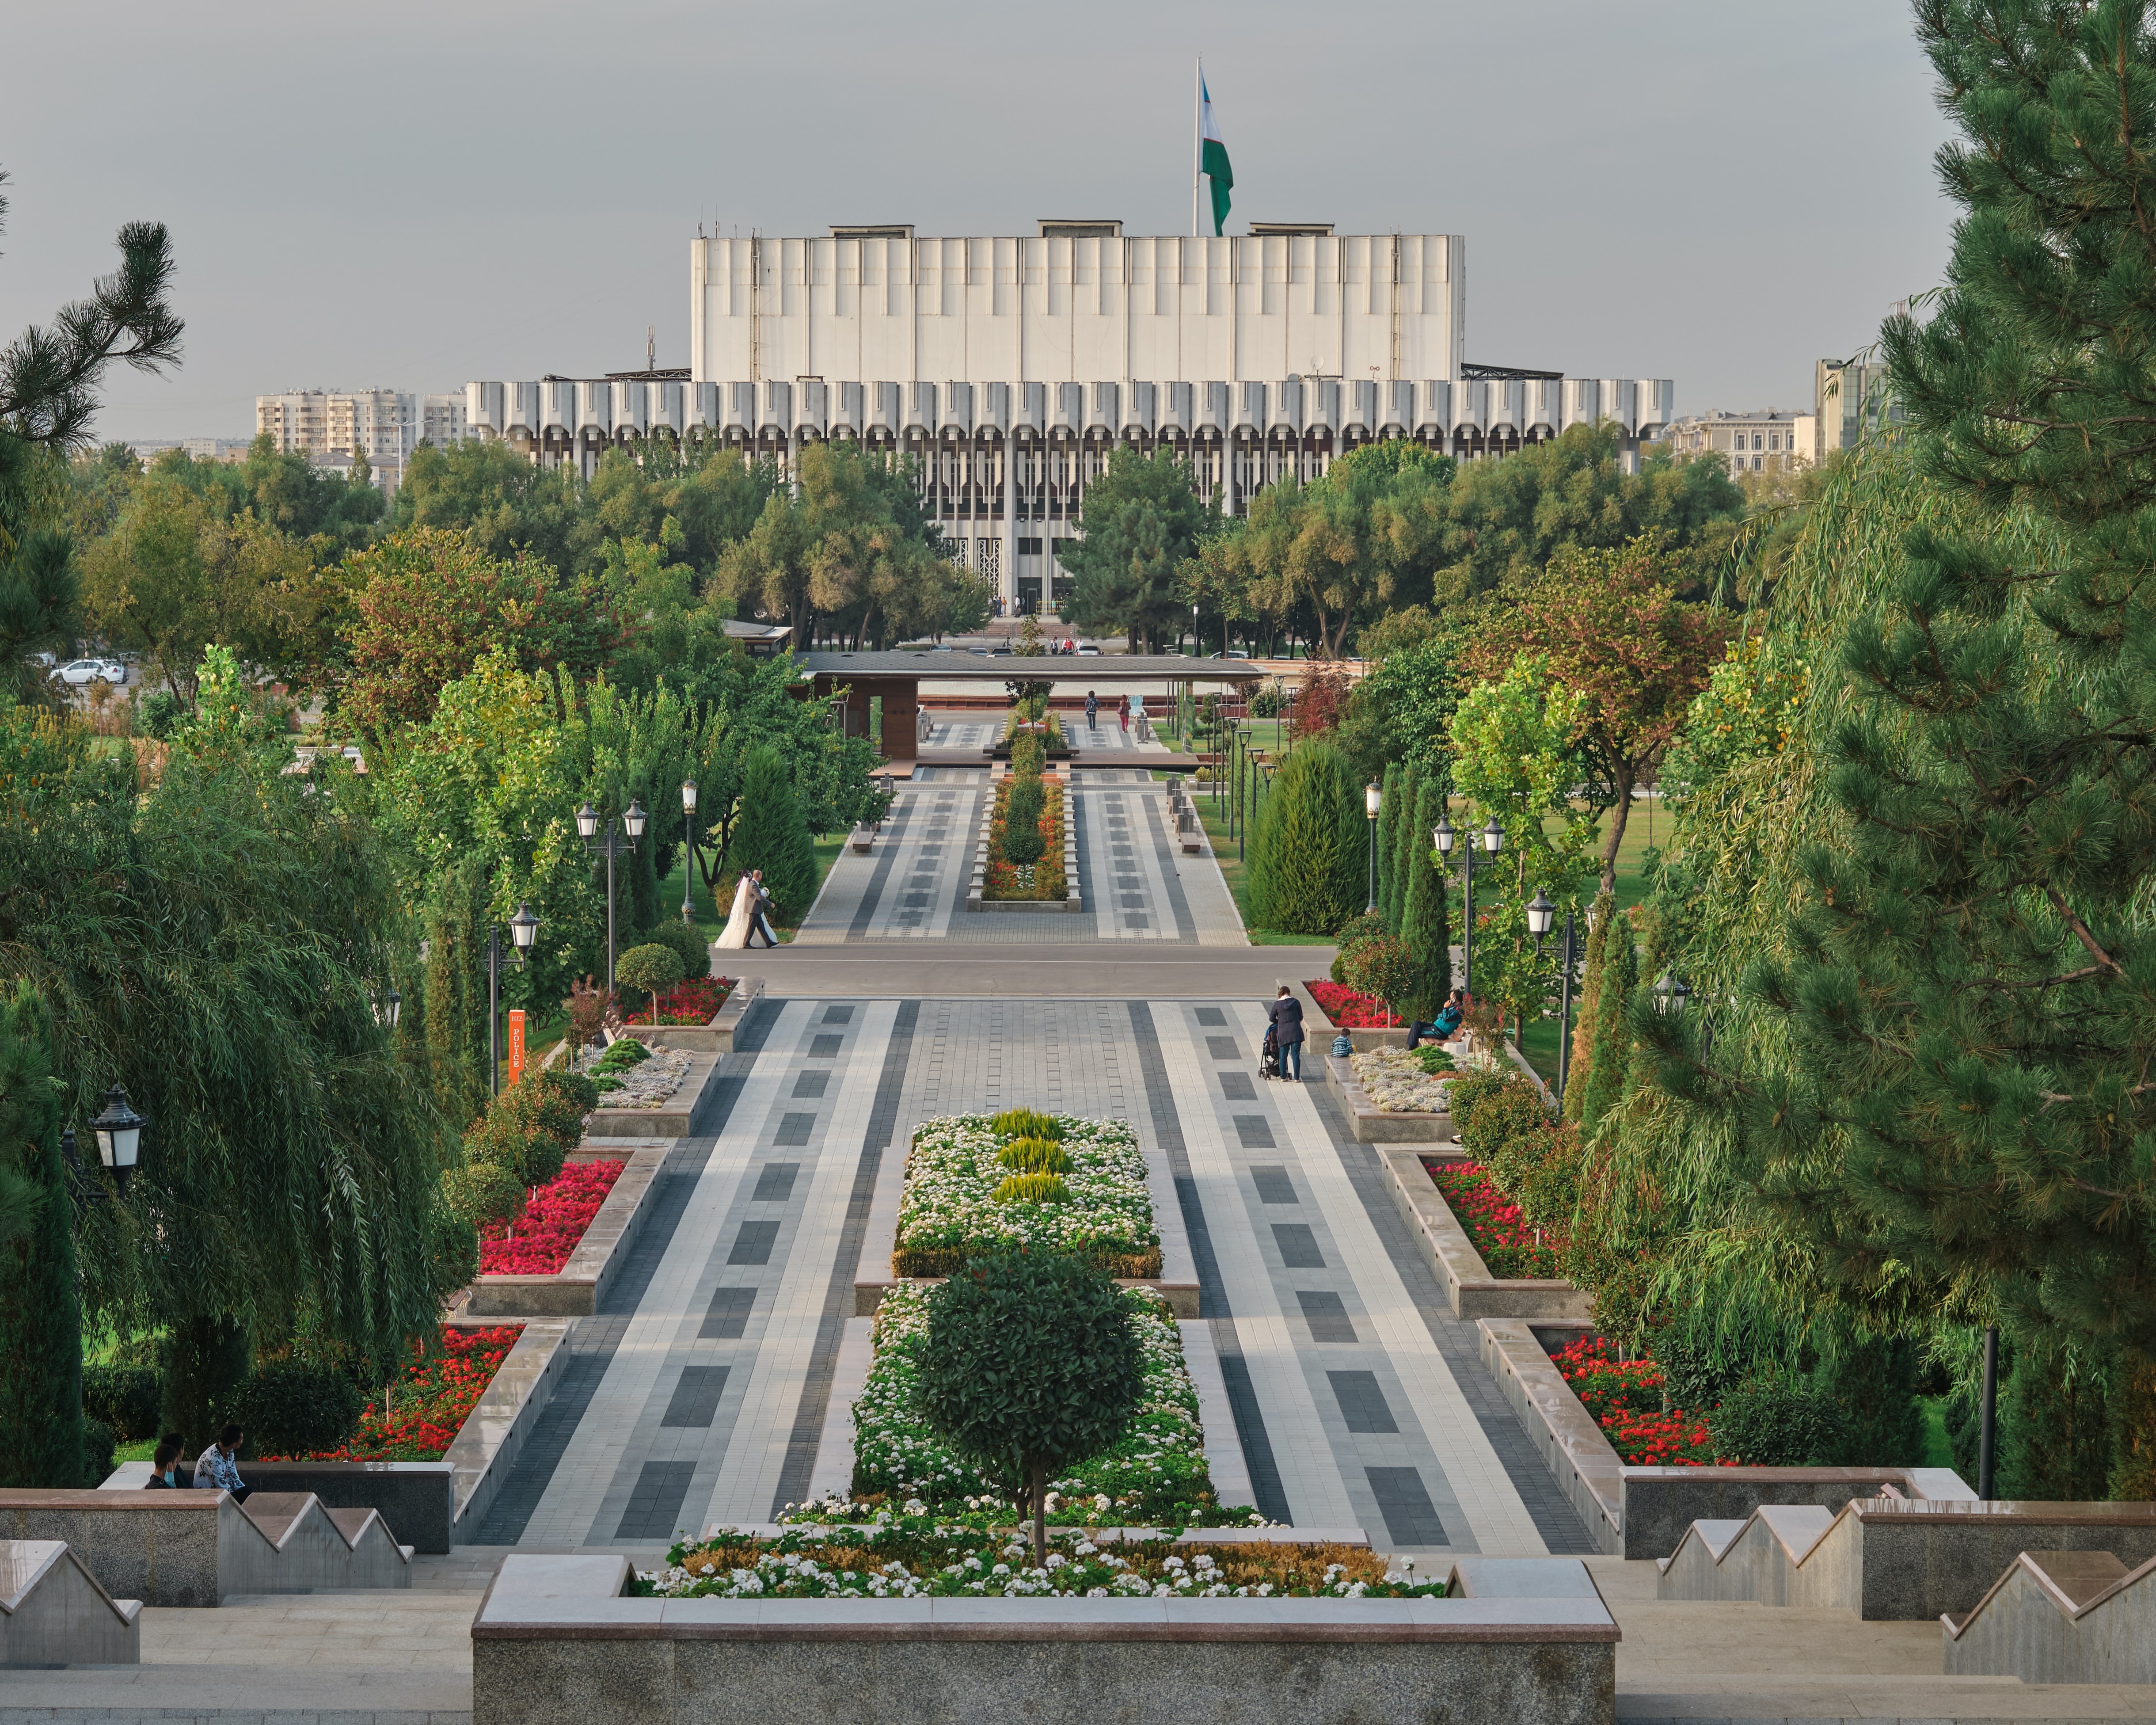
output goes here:
{"type": "Polygon", "coordinates": [[[60,1540],[106,1593],[160,1606],[412,1585],[377,1512],[313,1492],[0,1492],[0,1540],[60,1540]]]}

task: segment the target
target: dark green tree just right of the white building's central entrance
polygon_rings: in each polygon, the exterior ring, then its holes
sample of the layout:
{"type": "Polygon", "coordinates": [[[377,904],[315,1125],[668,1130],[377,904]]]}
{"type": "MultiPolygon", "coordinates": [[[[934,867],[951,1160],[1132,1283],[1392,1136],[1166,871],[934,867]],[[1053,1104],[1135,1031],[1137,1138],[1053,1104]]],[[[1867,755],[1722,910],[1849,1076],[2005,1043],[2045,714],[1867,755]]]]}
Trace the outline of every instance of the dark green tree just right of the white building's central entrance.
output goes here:
{"type": "Polygon", "coordinates": [[[1061,552],[1076,578],[1065,621],[1087,632],[1117,630],[1132,653],[1141,643],[1158,647],[1188,612],[1177,571],[1212,520],[1212,507],[1192,492],[1188,461],[1117,448],[1087,483],[1080,537],[1061,552]]]}

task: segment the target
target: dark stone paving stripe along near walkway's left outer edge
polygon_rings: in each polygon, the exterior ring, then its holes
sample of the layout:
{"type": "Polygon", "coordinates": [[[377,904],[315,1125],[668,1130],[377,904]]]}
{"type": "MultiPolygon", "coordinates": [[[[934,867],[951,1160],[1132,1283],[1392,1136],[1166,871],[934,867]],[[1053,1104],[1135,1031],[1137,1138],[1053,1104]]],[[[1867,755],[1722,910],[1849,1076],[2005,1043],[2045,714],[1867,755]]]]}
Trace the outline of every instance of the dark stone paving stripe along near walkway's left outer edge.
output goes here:
{"type": "MultiPolygon", "coordinates": [[[[539,1421],[530,1438],[524,1440],[524,1453],[517,1455],[509,1479],[487,1509],[487,1520],[472,1535],[474,1546],[513,1546],[524,1537],[524,1527],[539,1509],[539,1499],[545,1496],[545,1488],[554,1481],[554,1468],[561,1466],[561,1458],[569,1449],[569,1438],[576,1436],[576,1427],[591,1408],[591,1397],[599,1393],[599,1384],[606,1380],[606,1367],[614,1363],[614,1350],[621,1348],[621,1337],[627,1335],[630,1317],[642,1305],[645,1289],[651,1287],[651,1276],[673,1244],[690,1195],[703,1177],[703,1164],[711,1158],[711,1145],[727,1130],[733,1104],[748,1082],[748,1074],[763,1050],[765,1037],[772,1033],[772,1024],[778,1022],[778,1003],[765,998],[750,1003],[748,1011],[742,1013],[742,1026],[733,1037],[733,1059],[724,1063],[727,1070],[711,1085],[703,1108],[696,1110],[696,1119],[690,1121],[696,1136],[683,1138],[666,1154],[666,1162],[653,1182],[658,1190],[645,1199],[651,1205],[651,1220],[645,1223],[642,1233],[630,1248],[630,1261],[614,1279],[614,1285],[606,1289],[604,1309],[591,1317],[580,1317],[569,1330],[569,1339],[563,1343],[569,1350],[569,1358],[561,1369],[561,1382],[554,1386],[554,1399],[539,1410],[539,1421]]],[[[681,1490],[686,1492],[688,1484],[681,1490]]],[[[666,1533],[662,1537],[673,1537],[673,1514],[679,1507],[677,1496],[675,1507],[666,1514],[666,1533]]],[[[614,1537],[623,1535],[617,1533],[614,1537]]]]}

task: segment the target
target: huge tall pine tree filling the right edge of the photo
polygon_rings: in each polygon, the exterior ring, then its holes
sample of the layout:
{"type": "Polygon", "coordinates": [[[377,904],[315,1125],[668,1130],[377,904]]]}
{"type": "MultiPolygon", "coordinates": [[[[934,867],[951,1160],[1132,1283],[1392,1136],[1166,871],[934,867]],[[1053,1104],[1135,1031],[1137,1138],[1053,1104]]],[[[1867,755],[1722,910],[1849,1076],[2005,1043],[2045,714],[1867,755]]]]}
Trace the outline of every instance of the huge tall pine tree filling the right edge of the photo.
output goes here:
{"type": "Polygon", "coordinates": [[[1919,0],[1917,28],[1962,218],[1930,321],[1882,341],[1949,511],[1826,673],[1846,837],[1749,981],[1794,1059],[1738,1091],[1751,1182],[1854,1300],[2109,1356],[2111,1484],[2150,1496],[2156,39],[2145,0],[1919,0]],[[2007,513],[2044,556],[2001,554],[2007,513]]]}

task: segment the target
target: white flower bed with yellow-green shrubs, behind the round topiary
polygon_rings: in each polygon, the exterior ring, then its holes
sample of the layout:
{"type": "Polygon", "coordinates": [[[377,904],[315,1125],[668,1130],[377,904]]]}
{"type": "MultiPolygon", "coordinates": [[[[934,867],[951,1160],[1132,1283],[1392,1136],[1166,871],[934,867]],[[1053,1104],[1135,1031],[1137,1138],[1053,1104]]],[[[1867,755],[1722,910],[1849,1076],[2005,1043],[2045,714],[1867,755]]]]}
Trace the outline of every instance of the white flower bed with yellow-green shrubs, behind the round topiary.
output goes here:
{"type": "Polygon", "coordinates": [[[1119,1119],[946,1115],[923,1121],[906,1158],[890,1253],[895,1276],[949,1276],[968,1257],[1039,1244],[1080,1253],[1110,1276],[1160,1276],[1160,1233],[1138,1134],[1119,1119]],[[1041,1182],[998,1160],[1052,1130],[1063,1167],[1041,1182]]]}

